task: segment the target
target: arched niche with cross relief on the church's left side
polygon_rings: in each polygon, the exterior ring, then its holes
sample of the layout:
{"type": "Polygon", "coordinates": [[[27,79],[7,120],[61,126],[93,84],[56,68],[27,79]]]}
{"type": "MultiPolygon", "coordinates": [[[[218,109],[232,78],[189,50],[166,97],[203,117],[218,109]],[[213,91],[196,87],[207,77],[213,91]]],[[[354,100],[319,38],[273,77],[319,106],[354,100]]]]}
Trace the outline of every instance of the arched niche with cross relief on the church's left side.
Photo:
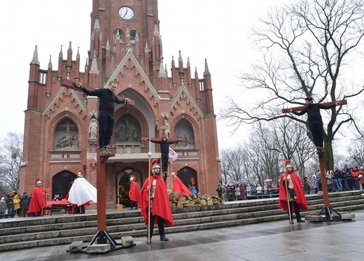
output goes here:
{"type": "Polygon", "coordinates": [[[78,128],[70,118],[61,120],[55,128],[55,150],[77,150],[78,128]]]}

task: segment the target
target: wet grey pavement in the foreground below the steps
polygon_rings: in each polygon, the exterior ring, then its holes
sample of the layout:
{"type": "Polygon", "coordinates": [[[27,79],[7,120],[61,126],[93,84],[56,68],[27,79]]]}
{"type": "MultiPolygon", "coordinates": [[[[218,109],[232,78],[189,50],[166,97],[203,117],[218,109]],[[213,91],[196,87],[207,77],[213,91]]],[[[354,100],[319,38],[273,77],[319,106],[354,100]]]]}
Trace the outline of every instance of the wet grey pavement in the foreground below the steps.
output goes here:
{"type": "MultiPolygon", "coordinates": [[[[104,254],[68,253],[69,245],[0,253],[1,260],[364,260],[364,211],[351,221],[295,223],[272,221],[216,230],[135,237],[137,246],[104,254]]],[[[119,242],[118,239],[116,241],[119,242]]],[[[89,242],[85,242],[87,246],[89,242]]]]}

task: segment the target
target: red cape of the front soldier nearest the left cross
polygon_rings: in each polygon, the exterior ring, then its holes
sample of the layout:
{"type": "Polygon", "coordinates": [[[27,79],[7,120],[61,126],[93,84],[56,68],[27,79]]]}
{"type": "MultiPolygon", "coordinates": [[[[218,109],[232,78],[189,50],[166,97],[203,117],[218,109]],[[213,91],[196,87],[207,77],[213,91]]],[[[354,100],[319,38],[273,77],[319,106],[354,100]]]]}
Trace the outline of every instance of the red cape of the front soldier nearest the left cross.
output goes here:
{"type": "MultiPolygon", "coordinates": [[[[148,185],[149,180],[151,180],[152,185],[154,179],[157,181],[157,184],[155,186],[155,194],[151,213],[163,218],[165,225],[173,225],[172,209],[171,205],[169,204],[167,187],[165,185],[165,181],[163,181],[163,178],[160,176],[151,176],[150,178],[147,178],[140,190],[141,216],[143,216],[144,223],[148,224],[148,185]]],[[[155,218],[154,223],[158,223],[158,218],[155,218]]]]}

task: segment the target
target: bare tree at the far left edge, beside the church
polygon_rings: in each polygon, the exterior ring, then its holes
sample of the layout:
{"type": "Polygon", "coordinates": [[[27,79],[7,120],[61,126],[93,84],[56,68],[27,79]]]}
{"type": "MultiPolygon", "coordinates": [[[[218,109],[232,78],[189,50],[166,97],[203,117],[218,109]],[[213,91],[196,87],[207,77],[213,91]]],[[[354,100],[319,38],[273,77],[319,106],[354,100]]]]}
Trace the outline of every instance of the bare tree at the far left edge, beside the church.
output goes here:
{"type": "Polygon", "coordinates": [[[10,132],[0,147],[0,183],[8,192],[19,190],[22,144],[22,134],[10,132]]]}

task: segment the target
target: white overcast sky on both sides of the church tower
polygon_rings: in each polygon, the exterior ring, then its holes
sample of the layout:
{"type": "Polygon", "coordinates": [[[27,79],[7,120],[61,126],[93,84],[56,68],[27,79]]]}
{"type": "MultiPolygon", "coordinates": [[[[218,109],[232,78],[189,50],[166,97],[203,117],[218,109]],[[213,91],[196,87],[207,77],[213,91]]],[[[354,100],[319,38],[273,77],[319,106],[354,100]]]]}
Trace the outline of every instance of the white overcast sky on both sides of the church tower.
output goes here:
{"type": "MultiPolygon", "coordinates": [[[[286,0],[288,1],[288,0],[286,0]]],[[[199,78],[207,59],[211,73],[215,113],[218,114],[225,95],[239,94],[240,71],[248,68],[255,50],[248,39],[248,28],[265,15],[269,5],[285,0],[159,0],[160,35],[164,62],[171,68],[172,56],[179,50],[186,66],[190,57],[199,78]]],[[[8,132],[24,131],[27,108],[29,64],[38,46],[41,69],[48,68],[50,55],[53,69],[61,45],[64,57],[72,42],[73,59],[80,47],[81,71],[90,48],[91,0],[18,0],[2,1],[1,29],[1,95],[0,139],[8,132]]],[[[169,73],[170,76],[170,73],[169,73]]],[[[219,148],[234,146],[244,137],[241,128],[230,136],[225,123],[218,120],[219,148]]]]}

